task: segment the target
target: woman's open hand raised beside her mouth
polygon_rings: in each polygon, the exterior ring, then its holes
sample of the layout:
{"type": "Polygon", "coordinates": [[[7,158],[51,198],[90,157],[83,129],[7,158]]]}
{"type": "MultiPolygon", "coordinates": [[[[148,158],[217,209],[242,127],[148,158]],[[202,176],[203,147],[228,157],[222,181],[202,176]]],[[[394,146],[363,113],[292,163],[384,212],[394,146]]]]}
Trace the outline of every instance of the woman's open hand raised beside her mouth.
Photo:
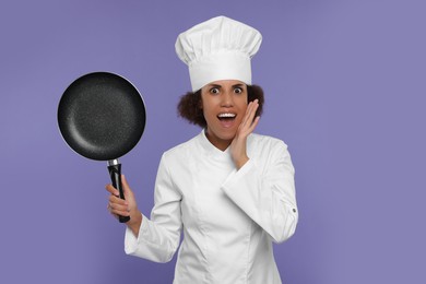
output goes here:
{"type": "Polygon", "coordinates": [[[237,169],[240,169],[249,159],[247,156],[247,137],[253,132],[258,126],[260,117],[256,117],[256,110],[259,107],[259,100],[250,102],[246,109],[246,115],[238,127],[237,133],[230,143],[230,155],[237,169]]]}

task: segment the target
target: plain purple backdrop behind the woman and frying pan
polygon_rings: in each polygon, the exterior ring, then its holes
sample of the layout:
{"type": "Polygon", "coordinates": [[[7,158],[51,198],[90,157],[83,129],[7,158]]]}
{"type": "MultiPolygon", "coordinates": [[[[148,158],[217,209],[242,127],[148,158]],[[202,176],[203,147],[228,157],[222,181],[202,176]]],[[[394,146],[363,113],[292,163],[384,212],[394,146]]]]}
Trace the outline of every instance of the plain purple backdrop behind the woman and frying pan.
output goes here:
{"type": "Polygon", "coordinates": [[[283,139],[296,167],[300,222],[275,246],[284,282],[426,283],[423,2],[2,0],[0,283],[171,283],[176,257],[125,255],[106,163],[70,151],[57,105],[92,71],[138,86],[147,126],[121,162],[150,214],[161,154],[200,131],[176,115],[190,88],[176,36],[220,14],[262,32],[257,132],[283,139]]]}

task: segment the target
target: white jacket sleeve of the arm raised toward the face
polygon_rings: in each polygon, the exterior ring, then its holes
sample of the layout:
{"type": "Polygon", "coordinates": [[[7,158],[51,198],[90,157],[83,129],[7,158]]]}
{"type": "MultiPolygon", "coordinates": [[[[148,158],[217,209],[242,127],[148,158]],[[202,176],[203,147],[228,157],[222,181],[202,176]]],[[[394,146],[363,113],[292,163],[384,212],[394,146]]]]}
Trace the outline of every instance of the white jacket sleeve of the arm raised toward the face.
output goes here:
{"type": "Polygon", "coordinates": [[[294,167],[287,146],[273,143],[270,151],[253,155],[222,186],[225,194],[275,242],[288,239],[296,229],[298,211],[294,167]]]}

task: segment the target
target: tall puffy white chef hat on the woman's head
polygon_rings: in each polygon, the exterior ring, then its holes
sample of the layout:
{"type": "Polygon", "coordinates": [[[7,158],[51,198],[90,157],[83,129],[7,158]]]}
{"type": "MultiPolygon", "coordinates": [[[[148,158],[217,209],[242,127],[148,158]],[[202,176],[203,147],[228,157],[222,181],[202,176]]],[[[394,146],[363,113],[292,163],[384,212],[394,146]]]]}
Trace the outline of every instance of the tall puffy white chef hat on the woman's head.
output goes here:
{"type": "Polygon", "coordinates": [[[262,35],[251,26],[226,16],[213,17],[181,33],[176,54],[189,67],[192,91],[217,80],[251,84],[250,59],[262,35]]]}

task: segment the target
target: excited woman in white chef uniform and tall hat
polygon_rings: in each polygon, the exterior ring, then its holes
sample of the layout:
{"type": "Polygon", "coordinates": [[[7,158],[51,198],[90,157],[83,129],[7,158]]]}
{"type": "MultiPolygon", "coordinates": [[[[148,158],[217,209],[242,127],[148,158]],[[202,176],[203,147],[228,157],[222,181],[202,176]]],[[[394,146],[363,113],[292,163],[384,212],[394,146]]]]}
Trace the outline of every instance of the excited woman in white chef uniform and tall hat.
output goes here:
{"type": "Polygon", "coordinates": [[[252,133],[263,93],[251,85],[250,59],[261,40],[224,16],[180,34],[176,52],[189,67],[192,92],[178,108],[203,130],[163,154],[151,218],[126,178],[126,201],[107,186],[108,210],[130,216],[128,255],[167,262],[179,248],[175,284],[281,283],[272,241],[294,234],[298,211],[286,144],[252,133]]]}

